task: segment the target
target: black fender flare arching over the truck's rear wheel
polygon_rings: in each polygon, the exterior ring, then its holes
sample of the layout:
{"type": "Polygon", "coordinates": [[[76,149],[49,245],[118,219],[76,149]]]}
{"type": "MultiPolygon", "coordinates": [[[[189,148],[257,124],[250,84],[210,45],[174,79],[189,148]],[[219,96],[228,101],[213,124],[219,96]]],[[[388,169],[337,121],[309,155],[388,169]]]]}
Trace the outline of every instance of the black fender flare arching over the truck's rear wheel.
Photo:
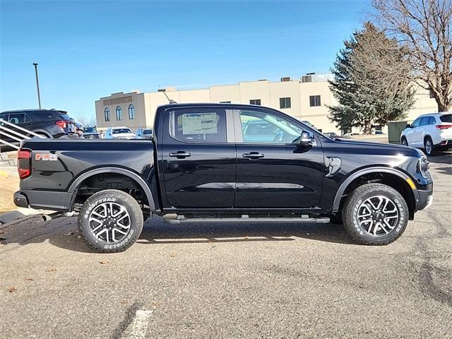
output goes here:
{"type": "Polygon", "coordinates": [[[151,212],[155,212],[155,200],[154,200],[153,194],[150,191],[148,183],[145,182],[145,180],[142,177],[140,177],[138,174],[136,174],[135,172],[132,172],[129,169],[124,169],[121,167],[100,167],[100,168],[96,168],[96,169],[91,169],[90,171],[79,175],[72,182],[71,186],[69,186],[68,193],[72,194],[71,207],[73,205],[73,199],[75,198],[75,192],[78,189],[78,186],[83,182],[83,180],[88,179],[89,177],[93,177],[93,175],[104,174],[104,173],[123,174],[126,177],[129,177],[129,178],[135,180],[138,183],[138,185],[140,185],[141,189],[143,189],[143,192],[144,192],[146,198],[148,198],[149,208],[150,208],[151,212]]]}

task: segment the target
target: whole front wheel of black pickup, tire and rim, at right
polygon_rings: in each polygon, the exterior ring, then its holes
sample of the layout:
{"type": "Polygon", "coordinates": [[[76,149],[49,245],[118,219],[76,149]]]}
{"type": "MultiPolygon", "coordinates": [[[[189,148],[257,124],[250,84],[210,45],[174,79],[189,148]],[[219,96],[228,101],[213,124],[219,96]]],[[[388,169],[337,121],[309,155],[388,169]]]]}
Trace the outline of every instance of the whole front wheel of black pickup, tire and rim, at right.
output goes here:
{"type": "Polygon", "coordinates": [[[345,230],[359,244],[387,245],[396,241],[408,224],[403,196],[384,184],[365,184],[345,201],[345,230]]]}

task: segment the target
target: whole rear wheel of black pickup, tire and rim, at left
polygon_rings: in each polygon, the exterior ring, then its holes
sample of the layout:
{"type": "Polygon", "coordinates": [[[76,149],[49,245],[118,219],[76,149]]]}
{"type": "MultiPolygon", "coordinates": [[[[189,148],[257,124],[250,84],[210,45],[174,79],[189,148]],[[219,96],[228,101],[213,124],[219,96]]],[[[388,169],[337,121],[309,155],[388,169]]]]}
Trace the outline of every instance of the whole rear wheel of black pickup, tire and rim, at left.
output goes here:
{"type": "Polygon", "coordinates": [[[123,191],[106,189],[90,196],[78,214],[78,232],[90,248],[102,253],[128,249],[143,230],[143,213],[123,191]]]}

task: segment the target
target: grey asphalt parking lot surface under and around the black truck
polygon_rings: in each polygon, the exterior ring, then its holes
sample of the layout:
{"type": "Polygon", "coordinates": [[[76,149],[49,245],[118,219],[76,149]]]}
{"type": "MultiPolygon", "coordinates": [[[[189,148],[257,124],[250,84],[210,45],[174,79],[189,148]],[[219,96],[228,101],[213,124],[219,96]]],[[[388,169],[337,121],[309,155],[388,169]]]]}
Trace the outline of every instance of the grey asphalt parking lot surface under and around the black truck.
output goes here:
{"type": "Polygon", "coordinates": [[[337,225],[167,225],[95,254],[76,218],[1,229],[2,338],[451,338],[452,153],[388,246],[337,225]]]}

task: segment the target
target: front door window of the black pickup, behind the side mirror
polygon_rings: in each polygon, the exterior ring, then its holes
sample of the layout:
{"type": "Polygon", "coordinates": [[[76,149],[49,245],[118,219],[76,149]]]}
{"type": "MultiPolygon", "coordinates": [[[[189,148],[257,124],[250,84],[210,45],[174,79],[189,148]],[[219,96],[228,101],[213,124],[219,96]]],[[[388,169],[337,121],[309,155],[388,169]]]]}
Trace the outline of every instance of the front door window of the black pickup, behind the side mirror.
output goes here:
{"type": "Polygon", "coordinates": [[[302,129],[267,112],[239,112],[244,143],[296,143],[302,129]]]}

